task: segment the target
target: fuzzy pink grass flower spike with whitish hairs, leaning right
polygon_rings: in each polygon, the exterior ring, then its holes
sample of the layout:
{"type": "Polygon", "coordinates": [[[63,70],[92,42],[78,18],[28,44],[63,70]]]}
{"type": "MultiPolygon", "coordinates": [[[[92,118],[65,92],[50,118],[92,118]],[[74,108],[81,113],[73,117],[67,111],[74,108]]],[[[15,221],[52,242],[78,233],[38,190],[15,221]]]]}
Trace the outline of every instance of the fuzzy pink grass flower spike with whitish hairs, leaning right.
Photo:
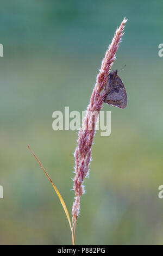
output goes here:
{"type": "Polygon", "coordinates": [[[127,19],[124,18],[119,28],[117,28],[111,44],[106,50],[105,57],[102,61],[101,70],[96,78],[96,84],[90,98],[90,103],[87,106],[86,115],[83,119],[82,128],[78,132],[77,148],[74,152],[75,157],[75,173],[74,176],[74,193],[75,200],[72,205],[72,227],[74,228],[74,237],[76,229],[77,216],[80,210],[80,197],[84,193],[84,178],[89,174],[89,165],[91,162],[91,147],[95,136],[95,127],[98,122],[98,114],[101,111],[105,98],[104,87],[108,81],[109,70],[111,69],[116,52],[125,27],[127,19]]]}

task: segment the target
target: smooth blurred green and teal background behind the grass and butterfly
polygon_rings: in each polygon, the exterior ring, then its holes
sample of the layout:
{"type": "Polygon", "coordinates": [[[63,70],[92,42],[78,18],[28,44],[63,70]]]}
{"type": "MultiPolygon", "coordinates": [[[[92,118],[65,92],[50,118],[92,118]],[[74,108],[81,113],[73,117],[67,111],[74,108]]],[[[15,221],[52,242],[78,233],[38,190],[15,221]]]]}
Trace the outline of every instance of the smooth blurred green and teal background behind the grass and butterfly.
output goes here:
{"type": "Polygon", "coordinates": [[[84,111],[112,36],[128,18],[113,69],[128,106],[98,131],[77,223],[77,244],[163,244],[160,1],[2,1],[0,243],[67,245],[71,233],[35,151],[71,212],[76,131],[53,131],[52,113],[84,111]]]}

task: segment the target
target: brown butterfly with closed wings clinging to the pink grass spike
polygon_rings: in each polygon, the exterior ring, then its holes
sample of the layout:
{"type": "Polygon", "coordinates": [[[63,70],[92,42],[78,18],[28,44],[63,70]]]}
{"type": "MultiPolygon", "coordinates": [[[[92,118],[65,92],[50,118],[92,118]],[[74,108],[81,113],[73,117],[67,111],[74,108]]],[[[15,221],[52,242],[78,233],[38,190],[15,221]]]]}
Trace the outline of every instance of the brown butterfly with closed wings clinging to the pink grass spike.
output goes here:
{"type": "Polygon", "coordinates": [[[105,103],[119,108],[126,108],[127,93],[126,88],[120,77],[117,75],[118,70],[113,70],[109,73],[108,82],[105,86],[106,96],[105,103]]]}

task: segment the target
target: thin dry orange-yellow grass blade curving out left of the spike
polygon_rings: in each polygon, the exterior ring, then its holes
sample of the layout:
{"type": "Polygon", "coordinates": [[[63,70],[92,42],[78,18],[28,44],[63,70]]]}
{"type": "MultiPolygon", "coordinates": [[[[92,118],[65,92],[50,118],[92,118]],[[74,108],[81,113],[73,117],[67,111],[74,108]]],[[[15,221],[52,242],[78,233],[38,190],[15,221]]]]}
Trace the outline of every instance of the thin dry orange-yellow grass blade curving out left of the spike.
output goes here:
{"type": "Polygon", "coordinates": [[[72,233],[72,242],[74,244],[74,237],[73,237],[73,229],[72,229],[72,225],[71,225],[71,221],[70,221],[70,216],[68,214],[68,210],[67,210],[67,207],[66,207],[66,204],[64,202],[64,199],[61,197],[61,194],[59,193],[57,187],[54,185],[53,181],[51,180],[50,176],[48,175],[48,173],[46,172],[45,168],[43,168],[42,164],[40,163],[39,159],[37,159],[35,153],[32,151],[32,149],[30,149],[29,145],[27,144],[27,147],[29,148],[30,152],[33,154],[33,156],[35,157],[35,159],[37,160],[37,162],[40,164],[43,172],[45,172],[45,174],[47,175],[49,181],[51,181],[52,183],[52,186],[54,187],[54,190],[55,192],[57,193],[57,196],[59,197],[59,200],[62,204],[62,207],[64,208],[64,211],[65,211],[65,214],[67,216],[67,220],[68,220],[68,223],[70,224],[70,229],[71,229],[71,233],[72,233]]]}

